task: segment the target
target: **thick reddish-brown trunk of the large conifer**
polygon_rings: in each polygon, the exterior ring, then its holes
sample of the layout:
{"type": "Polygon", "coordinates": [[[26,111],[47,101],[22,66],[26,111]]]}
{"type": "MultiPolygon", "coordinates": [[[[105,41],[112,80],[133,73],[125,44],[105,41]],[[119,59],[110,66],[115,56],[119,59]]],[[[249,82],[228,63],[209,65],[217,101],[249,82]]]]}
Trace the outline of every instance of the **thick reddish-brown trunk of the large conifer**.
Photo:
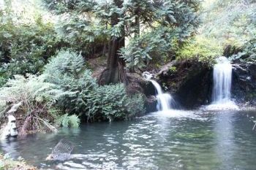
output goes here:
{"type": "MultiPolygon", "coordinates": [[[[121,7],[123,1],[114,1],[118,7],[121,7]]],[[[113,15],[111,26],[118,23],[118,15],[113,15]]],[[[124,82],[127,84],[127,75],[124,71],[124,60],[118,54],[121,47],[124,47],[124,29],[121,31],[121,37],[112,36],[108,45],[107,68],[99,77],[99,85],[108,85],[110,83],[124,82]]]]}

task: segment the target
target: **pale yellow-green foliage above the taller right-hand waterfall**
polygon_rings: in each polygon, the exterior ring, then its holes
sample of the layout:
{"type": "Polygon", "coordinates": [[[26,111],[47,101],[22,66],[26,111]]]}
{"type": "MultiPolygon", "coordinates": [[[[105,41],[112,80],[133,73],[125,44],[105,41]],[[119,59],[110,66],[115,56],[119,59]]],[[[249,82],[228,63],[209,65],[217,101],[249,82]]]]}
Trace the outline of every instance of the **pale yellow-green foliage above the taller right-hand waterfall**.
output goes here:
{"type": "Polygon", "coordinates": [[[255,45],[256,3],[242,0],[206,0],[202,3],[202,24],[198,34],[180,50],[180,58],[211,62],[219,55],[246,58],[255,45]]]}

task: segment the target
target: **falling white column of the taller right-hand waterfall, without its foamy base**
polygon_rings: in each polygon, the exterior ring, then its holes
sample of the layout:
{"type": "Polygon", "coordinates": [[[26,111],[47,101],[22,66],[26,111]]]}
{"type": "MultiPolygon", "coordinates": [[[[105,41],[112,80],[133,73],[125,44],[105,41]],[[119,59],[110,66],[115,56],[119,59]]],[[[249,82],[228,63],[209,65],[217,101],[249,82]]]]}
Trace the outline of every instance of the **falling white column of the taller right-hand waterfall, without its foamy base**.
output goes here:
{"type": "Polygon", "coordinates": [[[230,90],[232,80],[232,65],[225,57],[217,58],[214,65],[214,104],[230,101],[230,90]]]}

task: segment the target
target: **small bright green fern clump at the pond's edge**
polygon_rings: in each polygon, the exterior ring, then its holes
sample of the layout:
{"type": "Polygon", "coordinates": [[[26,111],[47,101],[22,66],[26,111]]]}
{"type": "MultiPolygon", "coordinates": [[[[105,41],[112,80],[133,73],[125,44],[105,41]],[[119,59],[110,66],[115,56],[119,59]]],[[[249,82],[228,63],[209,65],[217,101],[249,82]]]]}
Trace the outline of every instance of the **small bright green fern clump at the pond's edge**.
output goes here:
{"type": "Polygon", "coordinates": [[[80,119],[77,115],[64,114],[56,120],[56,124],[63,126],[64,128],[78,128],[80,125],[80,119]]]}

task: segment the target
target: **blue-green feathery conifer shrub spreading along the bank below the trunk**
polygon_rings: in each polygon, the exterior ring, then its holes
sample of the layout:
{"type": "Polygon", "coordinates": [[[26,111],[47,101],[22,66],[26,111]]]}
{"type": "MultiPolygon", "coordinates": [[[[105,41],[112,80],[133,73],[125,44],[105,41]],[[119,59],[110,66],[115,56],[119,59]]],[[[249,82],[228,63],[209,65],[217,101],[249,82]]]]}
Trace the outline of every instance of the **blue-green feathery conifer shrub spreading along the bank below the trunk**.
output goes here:
{"type": "MultiPolygon", "coordinates": [[[[97,85],[96,80],[91,77],[91,72],[84,68],[84,64],[80,55],[60,51],[56,58],[52,58],[45,66],[46,80],[65,93],[58,100],[63,112],[86,115],[88,121],[128,119],[144,112],[141,96],[133,98],[133,101],[141,104],[138,106],[132,104],[124,85],[97,85]],[[133,109],[127,107],[129,104],[134,105],[133,109]]],[[[67,121],[62,124],[67,125],[67,121]]]]}

